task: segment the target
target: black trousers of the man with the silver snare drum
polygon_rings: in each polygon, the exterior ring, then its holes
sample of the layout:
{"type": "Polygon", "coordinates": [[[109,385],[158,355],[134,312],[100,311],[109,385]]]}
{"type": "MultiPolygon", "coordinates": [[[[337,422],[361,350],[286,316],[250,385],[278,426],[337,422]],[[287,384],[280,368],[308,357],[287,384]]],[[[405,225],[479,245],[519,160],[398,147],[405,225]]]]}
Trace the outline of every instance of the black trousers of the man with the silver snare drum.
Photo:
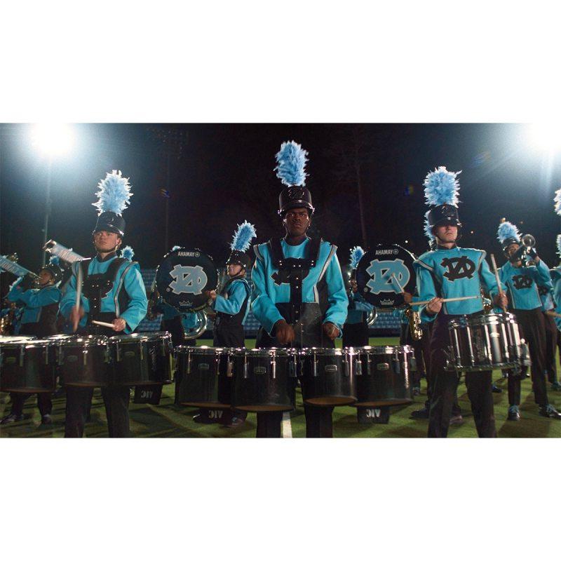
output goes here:
{"type": "MultiPolygon", "coordinates": [[[[445,370],[450,335],[448,323],[458,316],[439,313],[435,318],[431,337],[431,375],[433,393],[428,414],[428,437],[446,438],[454,398],[457,396],[459,377],[456,372],[445,370]]],[[[471,411],[480,438],[496,437],[493,408],[491,371],[467,372],[466,387],[471,402],[471,411]]]]}

